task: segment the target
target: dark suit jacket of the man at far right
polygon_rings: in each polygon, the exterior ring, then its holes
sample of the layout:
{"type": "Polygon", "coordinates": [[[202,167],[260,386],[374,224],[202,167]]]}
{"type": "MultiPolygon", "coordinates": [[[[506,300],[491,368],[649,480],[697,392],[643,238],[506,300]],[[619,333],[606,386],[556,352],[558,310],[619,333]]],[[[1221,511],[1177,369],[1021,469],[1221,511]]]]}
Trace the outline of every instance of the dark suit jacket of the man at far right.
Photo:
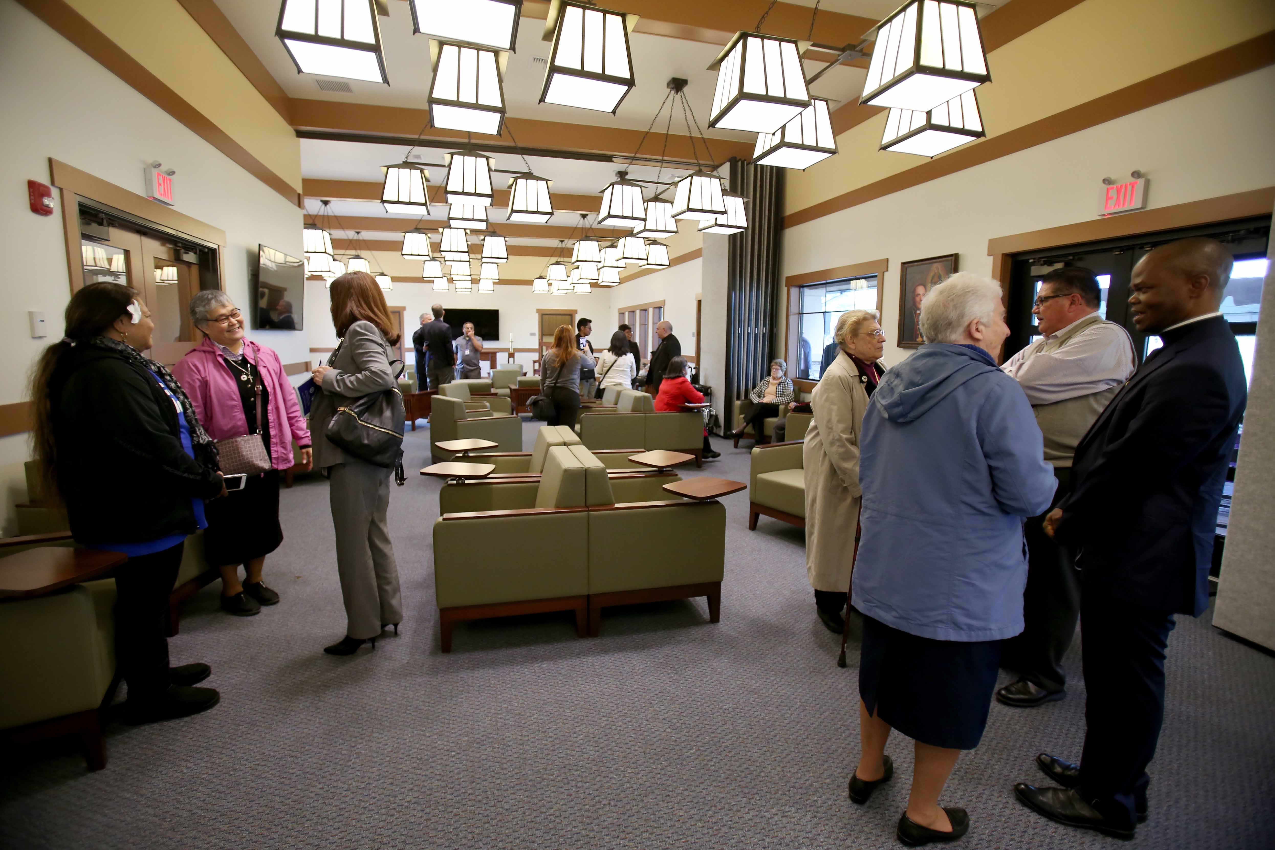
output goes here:
{"type": "Polygon", "coordinates": [[[1081,547],[1086,586],[1198,617],[1248,389],[1224,317],[1162,339],[1076,446],[1057,538],[1081,547]]]}

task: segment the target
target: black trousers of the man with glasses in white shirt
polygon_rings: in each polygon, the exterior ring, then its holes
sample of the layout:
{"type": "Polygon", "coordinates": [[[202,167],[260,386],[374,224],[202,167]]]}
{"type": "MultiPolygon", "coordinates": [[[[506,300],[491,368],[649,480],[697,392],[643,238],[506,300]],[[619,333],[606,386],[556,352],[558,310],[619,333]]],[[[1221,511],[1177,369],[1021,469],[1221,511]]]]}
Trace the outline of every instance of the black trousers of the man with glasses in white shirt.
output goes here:
{"type": "MultiPolygon", "coordinates": [[[[1071,492],[1071,470],[1056,468],[1053,474],[1058,479],[1057,505],[1071,492]]],[[[1080,571],[1072,553],[1040,528],[1048,512],[1033,516],[1024,529],[1028,585],[1023,591],[1023,633],[1005,642],[1002,664],[1037,687],[1057,692],[1067,684],[1062,656],[1080,619],[1080,571]]]]}

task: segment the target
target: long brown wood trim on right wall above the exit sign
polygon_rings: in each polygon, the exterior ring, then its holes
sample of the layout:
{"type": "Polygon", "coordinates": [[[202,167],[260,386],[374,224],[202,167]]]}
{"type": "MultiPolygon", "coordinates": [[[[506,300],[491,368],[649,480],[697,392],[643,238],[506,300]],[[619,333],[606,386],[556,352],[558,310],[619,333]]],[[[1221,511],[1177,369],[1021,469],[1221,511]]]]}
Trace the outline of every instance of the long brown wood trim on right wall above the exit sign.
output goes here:
{"type": "Polygon", "coordinates": [[[1026,150],[1275,64],[1275,31],[784,217],[784,229],[1026,150]]]}

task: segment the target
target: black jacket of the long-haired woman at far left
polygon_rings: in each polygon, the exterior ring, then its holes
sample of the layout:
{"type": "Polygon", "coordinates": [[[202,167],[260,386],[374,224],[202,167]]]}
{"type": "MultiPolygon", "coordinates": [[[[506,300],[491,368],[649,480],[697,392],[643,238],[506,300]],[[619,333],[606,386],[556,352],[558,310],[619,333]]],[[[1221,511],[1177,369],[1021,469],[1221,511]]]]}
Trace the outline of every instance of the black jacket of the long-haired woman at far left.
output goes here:
{"type": "Polygon", "coordinates": [[[217,472],[186,454],[177,409],[154,376],[91,345],[50,381],[57,488],[79,543],[144,543],[194,534],[191,498],[213,498],[217,472]]]}

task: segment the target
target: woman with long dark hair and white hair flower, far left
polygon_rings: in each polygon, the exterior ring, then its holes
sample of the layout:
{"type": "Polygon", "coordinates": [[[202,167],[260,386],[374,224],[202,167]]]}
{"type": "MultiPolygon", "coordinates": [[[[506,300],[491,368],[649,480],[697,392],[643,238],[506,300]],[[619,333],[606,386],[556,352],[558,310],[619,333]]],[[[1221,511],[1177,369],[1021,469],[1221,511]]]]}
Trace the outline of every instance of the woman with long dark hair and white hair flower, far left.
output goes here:
{"type": "Polygon", "coordinates": [[[32,372],[32,437],[45,492],[66,506],[75,542],[129,556],[115,573],[125,719],[212,709],[217,691],[193,687],[209,666],[170,668],[164,623],[186,537],[207,526],[204,500],[226,493],[217,447],[181,385],[140,354],[154,322],[136,292],[83,287],[66,306],[65,328],[32,372]]]}

